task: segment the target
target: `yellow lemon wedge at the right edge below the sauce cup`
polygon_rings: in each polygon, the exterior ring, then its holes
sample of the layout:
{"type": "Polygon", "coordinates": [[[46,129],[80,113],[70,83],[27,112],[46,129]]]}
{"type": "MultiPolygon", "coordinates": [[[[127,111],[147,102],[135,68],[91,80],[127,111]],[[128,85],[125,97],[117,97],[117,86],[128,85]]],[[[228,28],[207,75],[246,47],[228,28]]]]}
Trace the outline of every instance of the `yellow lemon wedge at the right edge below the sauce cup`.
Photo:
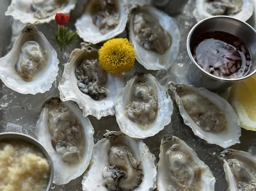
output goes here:
{"type": "Polygon", "coordinates": [[[231,87],[230,102],[241,127],[256,131],[256,75],[231,87]]]}

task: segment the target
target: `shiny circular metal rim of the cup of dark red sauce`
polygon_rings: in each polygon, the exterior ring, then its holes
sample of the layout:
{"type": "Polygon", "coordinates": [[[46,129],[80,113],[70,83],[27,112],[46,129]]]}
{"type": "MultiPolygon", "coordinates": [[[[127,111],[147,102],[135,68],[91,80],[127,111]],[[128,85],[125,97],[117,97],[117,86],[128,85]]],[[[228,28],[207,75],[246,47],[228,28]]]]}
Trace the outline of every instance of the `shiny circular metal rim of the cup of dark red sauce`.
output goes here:
{"type": "Polygon", "coordinates": [[[205,21],[208,21],[208,20],[211,20],[211,19],[215,19],[215,18],[232,19],[232,20],[235,20],[236,22],[243,23],[246,27],[248,27],[249,29],[251,29],[251,31],[253,31],[254,34],[255,34],[255,36],[256,36],[256,31],[255,31],[255,29],[254,29],[252,26],[250,26],[248,23],[246,23],[246,22],[244,22],[244,21],[241,21],[241,20],[239,20],[239,19],[233,18],[233,17],[231,17],[231,16],[212,16],[212,17],[205,18],[205,19],[199,21],[197,24],[195,24],[195,25],[193,26],[193,28],[190,30],[190,32],[188,33],[188,37],[187,37],[187,51],[188,51],[188,55],[189,55],[190,59],[192,60],[193,64],[194,64],[195,66],[197,66],[197,68],[199,68],[200,71],[201,71],[203,74],[205,74],[206,76],[209,76],[210,78],[213,78],[213,79],[215,79],[215,80],[218,80],[218,81],[223,81],[223,82],[230,82],[230,83],[232,83],[232,82],[243,81],[243,80],[245,80],[245,79],[250,78],[251,76],[253,76],[253,75],[256,73],[256,69],[255,69],[252,73],[250,73],[250,74],[248,74],[248,75],[246,75],[246,76],[243,76],[243,77],[241,77],[241,78],[231,78],[231,79],[230,79],[230,78],[220,78],[220,77],[218,77],[218,76],[215,76],[215,75],[210,74],[210,73],[208,73],[207,71],[203,70],[203,68],[201,68],[201,67],[198,65],[198,63],[195,61],[195,59],[193,58],[193,55],[192,55],[192,52],[191,52],[191,49],[190,49],[190,39],[191,39],[191,36],[192,36],[193,32],[195,31],[195,29],[196,29],[200,24],[204,23],[205,21]]]}

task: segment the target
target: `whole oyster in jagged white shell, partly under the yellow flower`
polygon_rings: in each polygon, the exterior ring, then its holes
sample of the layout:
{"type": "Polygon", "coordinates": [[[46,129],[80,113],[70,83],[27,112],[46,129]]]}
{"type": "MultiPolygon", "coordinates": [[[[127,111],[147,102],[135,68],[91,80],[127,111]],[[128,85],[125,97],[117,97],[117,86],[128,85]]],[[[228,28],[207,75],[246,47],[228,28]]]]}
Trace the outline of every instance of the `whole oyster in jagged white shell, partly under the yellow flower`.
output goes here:
{"type": "Polygon", "coordinates": [[[98,57],[98,49],[81,43],[81,49],[75,49],[65,64],[58,89],[60,99],[78,103],[84,117],[100,119],[115,114],[114,100],[124,87],[124,79],[102,70],[98,57]]]}

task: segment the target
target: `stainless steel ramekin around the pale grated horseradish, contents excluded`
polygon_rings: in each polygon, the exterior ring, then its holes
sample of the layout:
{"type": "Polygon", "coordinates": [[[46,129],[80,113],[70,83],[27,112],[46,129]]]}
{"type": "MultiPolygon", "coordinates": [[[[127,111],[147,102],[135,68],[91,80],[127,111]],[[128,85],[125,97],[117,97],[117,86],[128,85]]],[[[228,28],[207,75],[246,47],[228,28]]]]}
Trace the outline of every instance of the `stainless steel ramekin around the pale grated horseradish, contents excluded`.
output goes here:
{"type": "Polygon", "coordinates": [[[36,149],[38,149],[38,151],[40,151],[43,155],[45,155],[51,168],[49,182],[45,189],[45,191],[49,191],[53,183],[54,167],[53,167],[53,161],[51,159],[51,156],[49,152],[46,150],[46,148],[36,139],[22,133],[0,133],[0,142],[11,142],[11,141],[22,141],[27,144],[30,144],[34,146],[36,149]]]}

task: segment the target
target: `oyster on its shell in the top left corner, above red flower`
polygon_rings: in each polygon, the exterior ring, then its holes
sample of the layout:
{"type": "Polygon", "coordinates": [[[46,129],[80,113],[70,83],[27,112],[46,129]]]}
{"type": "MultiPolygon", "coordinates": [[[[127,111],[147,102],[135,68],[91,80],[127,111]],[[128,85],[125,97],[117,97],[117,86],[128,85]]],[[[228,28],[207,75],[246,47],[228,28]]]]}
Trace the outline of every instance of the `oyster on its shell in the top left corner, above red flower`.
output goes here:
{"type": "Polygon", "coordinates": [[[56,13],[69,14],[76,0],[12,0],[5,15],[11,15],[21,23],[50,23],[56,13]]]}

